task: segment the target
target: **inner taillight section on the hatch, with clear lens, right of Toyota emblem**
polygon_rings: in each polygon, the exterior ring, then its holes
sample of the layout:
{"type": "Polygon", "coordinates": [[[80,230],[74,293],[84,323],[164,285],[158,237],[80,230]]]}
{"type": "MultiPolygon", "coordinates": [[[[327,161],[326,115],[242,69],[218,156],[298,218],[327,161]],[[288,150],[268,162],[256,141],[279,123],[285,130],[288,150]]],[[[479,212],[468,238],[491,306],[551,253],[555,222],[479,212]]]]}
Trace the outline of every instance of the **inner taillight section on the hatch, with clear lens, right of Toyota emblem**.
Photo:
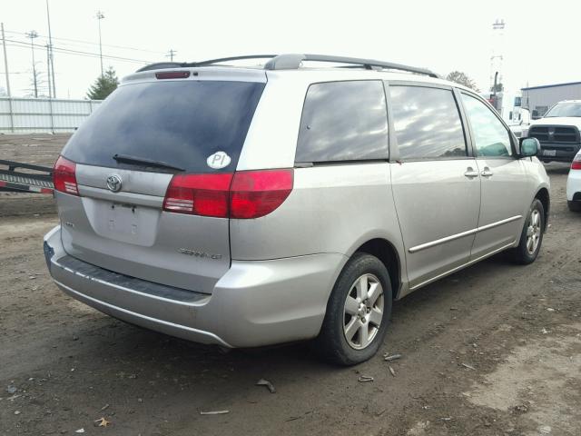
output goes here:
{"type": "Polygon", "coordinates": [[[231,180],[231,173],[175,174],[163,210],[227,218],[231,180]]]}

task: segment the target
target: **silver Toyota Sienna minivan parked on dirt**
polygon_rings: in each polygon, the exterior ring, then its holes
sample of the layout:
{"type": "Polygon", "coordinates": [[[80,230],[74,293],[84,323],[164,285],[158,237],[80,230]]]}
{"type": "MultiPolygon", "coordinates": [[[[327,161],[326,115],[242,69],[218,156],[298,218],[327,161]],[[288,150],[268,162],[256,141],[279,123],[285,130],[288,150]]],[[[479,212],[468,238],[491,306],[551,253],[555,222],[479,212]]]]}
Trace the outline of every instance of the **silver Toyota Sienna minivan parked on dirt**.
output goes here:
{"type": "Polygon", "coordinates": [[[195,342],[314,340],[349,365],[395,299],[495,253],[537,258],[537,139],[478,94],[400,64],[269,57],[124,78],[54,166],[59,288],[195,342]]]}

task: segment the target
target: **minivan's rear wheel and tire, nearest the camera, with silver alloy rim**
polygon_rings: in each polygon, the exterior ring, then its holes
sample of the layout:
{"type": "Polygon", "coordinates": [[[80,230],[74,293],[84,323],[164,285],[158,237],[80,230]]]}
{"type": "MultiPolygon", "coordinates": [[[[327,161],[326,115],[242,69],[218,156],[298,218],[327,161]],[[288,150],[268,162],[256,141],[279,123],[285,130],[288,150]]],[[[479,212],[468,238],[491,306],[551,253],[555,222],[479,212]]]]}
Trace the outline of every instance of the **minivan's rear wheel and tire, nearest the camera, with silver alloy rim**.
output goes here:
{"type": "Polygon", "coordinates": [[[392,291],[385,265],[355,253],[340,272],[327,303],[315,351],[327,362],[349,366],[369,360],[383,343],[392,291]]]}

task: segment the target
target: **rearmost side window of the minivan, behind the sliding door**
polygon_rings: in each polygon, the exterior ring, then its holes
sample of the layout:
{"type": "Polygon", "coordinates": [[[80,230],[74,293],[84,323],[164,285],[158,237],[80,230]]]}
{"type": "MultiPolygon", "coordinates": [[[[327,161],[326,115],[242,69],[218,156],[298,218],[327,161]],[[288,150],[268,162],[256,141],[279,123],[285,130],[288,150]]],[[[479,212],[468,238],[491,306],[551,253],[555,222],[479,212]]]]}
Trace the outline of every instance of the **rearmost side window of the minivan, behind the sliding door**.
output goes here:
{"type": "Polygon", "coordinates": [[[380,81],[311,84],[296,162],[388,158],[388,113],[380,81]]]}

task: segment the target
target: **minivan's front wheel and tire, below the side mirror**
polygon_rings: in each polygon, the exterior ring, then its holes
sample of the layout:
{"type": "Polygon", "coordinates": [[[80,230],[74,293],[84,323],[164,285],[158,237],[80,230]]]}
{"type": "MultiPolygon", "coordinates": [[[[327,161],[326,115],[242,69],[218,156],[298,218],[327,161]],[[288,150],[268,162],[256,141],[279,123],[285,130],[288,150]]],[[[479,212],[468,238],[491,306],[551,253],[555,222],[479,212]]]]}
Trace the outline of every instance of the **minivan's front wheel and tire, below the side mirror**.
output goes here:
{"type": "Polygon", "coordinates": [[[535,262],[543,242],[545,231],[545,208],[538,198],[533,200],[528,210],[527,220],[520,234],[520,243],[513,249],[515,262],[522,265],[535,262]]]}

